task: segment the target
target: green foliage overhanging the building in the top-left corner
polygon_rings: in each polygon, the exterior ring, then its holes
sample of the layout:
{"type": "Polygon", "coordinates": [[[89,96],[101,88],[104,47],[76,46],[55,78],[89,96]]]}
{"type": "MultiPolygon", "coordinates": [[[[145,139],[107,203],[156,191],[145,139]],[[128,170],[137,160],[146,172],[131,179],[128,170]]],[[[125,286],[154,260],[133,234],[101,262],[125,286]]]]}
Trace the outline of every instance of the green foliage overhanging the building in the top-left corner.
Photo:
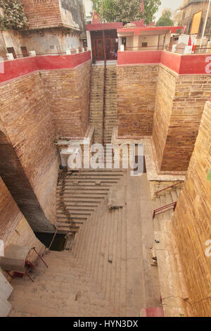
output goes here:
{"type": "Polygon", "coordinates": [[[27,15],[20,0],[0,0],[4,16],[0,15],[0,30],[18,30],[27,27],[27,15]]]}

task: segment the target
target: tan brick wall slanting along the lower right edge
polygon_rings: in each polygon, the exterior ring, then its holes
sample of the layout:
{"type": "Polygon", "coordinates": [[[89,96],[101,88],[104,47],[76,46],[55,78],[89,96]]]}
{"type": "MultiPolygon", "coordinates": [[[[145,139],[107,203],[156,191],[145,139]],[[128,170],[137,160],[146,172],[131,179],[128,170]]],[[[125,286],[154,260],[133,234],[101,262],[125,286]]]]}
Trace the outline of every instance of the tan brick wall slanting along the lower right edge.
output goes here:
{"type": "Polygon", "coordinates": [[[173,217],[184,277],[188,288],[189,316],[211,315],[211,257],[205,255],[205,242],[211,239],[211,104],[207,101],[200,123],[184,187],[173,217]]]}

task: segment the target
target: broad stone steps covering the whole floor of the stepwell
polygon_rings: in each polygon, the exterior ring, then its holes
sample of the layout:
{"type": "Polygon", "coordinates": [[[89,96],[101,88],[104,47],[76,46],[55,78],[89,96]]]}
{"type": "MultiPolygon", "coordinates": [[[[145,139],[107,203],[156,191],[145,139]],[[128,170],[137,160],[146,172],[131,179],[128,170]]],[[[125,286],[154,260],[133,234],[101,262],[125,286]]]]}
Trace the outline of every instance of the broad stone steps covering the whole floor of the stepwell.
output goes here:
{"type": "Polygon", "coordinates": [[[73,240],[69,250],[44,255],[49,268],[38,260],[34,282],[13,280],[11,316],[138,317],[159,306],[147,185],[127,170],[67,173],[58,183],[58,222],[73,240]]]}

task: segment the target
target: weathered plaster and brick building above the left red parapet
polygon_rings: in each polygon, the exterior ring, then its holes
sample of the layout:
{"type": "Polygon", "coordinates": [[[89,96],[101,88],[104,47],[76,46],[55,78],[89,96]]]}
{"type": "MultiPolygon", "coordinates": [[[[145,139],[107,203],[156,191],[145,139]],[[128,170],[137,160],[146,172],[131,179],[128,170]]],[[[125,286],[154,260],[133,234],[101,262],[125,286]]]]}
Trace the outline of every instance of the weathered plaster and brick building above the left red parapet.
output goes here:
{"type": "MultiPolygon", "coordinates": [[[[0,56],[14,58],[36,54],[62,54],[86,46],[83,0],[20,0],[27,15],[28,27],[3,31],[0,56]]],[[[1,11],[1,15],[4,12],[1,11]]]]}

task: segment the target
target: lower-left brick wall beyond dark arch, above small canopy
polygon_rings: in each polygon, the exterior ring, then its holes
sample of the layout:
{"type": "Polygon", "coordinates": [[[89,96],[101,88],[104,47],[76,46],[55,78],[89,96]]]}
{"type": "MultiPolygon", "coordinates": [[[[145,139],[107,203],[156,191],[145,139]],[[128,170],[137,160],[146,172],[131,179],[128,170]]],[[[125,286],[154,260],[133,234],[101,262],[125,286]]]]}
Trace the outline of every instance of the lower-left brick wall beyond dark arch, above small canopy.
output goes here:
{"type": "MultiPolygon", "coordinates": [[[[37,251],[44,251],[44,245],[34,236],[30,225],[20,212],[17,204],[0,177],[0,237],[4,246],[20,244],[21,246],[36,246],[37,251]]],[[[32,255],[34,260],[35,255],[32,255]]]]}

